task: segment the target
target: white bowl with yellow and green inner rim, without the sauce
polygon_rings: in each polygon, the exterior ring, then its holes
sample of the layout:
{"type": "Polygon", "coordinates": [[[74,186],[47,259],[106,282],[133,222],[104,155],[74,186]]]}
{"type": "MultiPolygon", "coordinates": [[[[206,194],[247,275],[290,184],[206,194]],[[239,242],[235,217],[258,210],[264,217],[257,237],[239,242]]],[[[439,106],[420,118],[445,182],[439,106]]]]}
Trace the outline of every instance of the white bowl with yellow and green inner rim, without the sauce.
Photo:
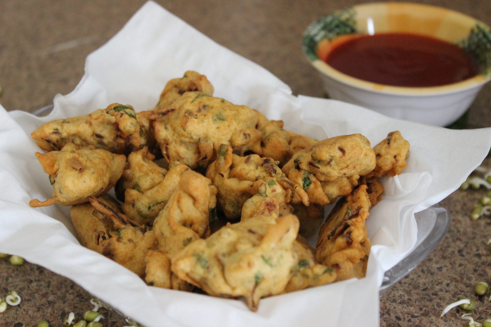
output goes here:
{"type": "Polygon", "coordinates": [[[321,73],[331,99],[436,126],[447,126],[459,119],[491,79],[490,27],[462,13],[424,4],[380,2],[335,11],[307,27],[302,49],[321,73]],[[458,83],[400,87],[343,74],[323,60],[348,34],[391,32],[415,33],[456,44],[477,60],[480,72],[458,83]]]}

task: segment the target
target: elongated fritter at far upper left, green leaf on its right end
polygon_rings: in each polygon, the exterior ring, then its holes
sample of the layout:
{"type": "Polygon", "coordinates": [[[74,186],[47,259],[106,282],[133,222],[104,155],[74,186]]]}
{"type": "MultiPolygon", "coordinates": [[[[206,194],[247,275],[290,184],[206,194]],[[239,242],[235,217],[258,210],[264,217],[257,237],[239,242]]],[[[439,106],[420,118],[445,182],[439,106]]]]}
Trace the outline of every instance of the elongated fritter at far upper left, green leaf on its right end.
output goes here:
{"type": "Polygon", "coordinates": [[[77,148],[93,146],[128,153],[147,143],[148,125],[140,126],[137,118],[131,105],[112,103],[88,115],[45,123],[31,137],[46,151],[61,150],[65,144],[73,143],[77,148]]]}

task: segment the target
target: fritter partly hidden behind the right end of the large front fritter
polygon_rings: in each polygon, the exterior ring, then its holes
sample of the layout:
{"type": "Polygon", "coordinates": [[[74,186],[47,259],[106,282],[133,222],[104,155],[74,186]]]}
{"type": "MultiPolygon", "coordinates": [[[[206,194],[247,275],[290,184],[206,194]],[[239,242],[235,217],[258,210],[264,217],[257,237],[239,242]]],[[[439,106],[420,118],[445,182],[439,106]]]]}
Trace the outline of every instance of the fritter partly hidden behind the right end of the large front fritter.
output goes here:
{"type": "Polygon", "coordinates": [[[294,252],[297,253],[297,264],[292,267],[292,277],[284,293],[325,285],[336,279],[337,275],[332,268],[314,260],[314,252],[304,240],[297,238],[293,245],[294,252]]]}

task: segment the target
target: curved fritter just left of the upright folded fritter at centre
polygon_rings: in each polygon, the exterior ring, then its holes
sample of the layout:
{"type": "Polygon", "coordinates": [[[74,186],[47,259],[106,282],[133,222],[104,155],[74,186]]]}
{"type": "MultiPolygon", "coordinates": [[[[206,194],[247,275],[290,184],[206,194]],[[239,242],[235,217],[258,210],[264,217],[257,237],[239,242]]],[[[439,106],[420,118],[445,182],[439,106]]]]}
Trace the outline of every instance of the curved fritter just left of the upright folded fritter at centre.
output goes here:
{"type": "MultiPolygon", "coordinates": [[[[147,161],[146,165],[147,167],[157,169],[157,165],[151,161],[147,161]]],[[[128,175],[134,169],[135,167],[129,167],[128,175]]],[[[149,180],[149,183],[146,184],[147,186],[155,184],[151,188],[146,190],[141,188],[138,190],[135,187],[127,188],[124,197],[125,201],[122,206],[124,213],[140,224],[152,225],[155,217],[165,207],[165,204],[167,204],[167,201],[177,189],[181,173],[185,170],[189,170],[189,167],[177,161],[171,162],[169,171],[165,176],[157,177],[157,174],[155,174],[155,179],[152,179],[152,182],[149,180]],[[157,181],[159,182],[157,183],[157,181]]],[[[151,177],[151,175],[147,175],[146,177],[151,177]]],[[[142,179],[140,178],[140,180],[142,179]]]]}

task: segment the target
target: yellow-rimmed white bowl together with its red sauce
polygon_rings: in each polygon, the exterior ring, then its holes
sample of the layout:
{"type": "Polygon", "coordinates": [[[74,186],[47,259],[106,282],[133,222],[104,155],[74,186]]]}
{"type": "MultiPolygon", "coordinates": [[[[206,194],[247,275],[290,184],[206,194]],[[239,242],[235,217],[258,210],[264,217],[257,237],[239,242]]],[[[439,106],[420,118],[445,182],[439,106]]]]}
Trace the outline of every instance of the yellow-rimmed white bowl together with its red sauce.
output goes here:
{"type": "Polygon", "coordinates": [[[331,99],[447,126],[491,79],[491,30],[446,8],[360,4],[307,27],[302,49],[331,99]]]}

